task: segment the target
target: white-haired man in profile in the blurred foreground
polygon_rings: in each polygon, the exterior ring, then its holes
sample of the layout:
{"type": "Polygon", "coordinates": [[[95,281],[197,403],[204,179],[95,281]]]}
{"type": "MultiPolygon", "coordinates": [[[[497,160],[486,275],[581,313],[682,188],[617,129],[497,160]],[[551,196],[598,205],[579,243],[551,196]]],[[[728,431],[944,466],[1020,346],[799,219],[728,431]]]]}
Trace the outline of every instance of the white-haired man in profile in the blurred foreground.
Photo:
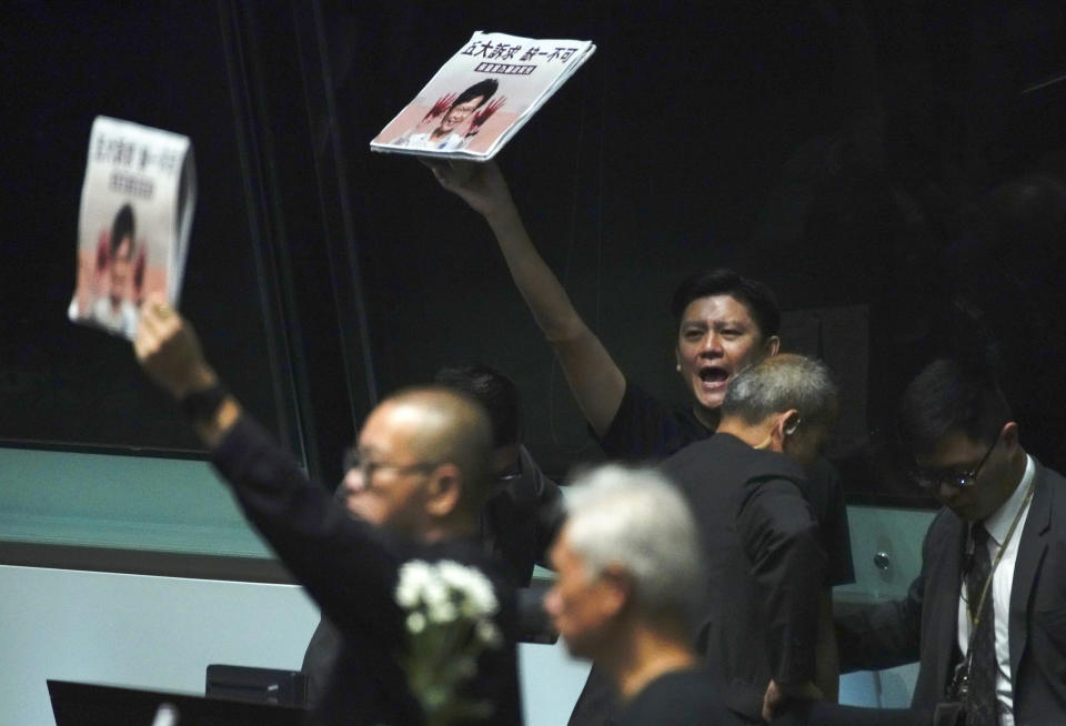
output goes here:
{"type": "Polygon", "coordinates": [[[574,483],[566,511],[544,607],[571,654],[610,675],[621,726],[742,723],[692,647],[704,575],[681,494],[652,470],[605,465],[574,483]]]}

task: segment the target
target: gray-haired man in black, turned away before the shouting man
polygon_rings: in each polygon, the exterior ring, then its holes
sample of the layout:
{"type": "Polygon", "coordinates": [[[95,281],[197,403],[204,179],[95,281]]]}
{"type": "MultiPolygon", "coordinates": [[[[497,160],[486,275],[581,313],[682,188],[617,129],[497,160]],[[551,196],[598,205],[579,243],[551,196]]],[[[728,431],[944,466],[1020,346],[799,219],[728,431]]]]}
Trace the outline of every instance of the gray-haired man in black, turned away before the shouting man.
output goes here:
{"type": "Polygon", "coordinates": [[[707,604],[697,648],[728,707],[751,723],[788,697],[835,697],[826,549],[837,545],[819,526],[829,500],[803,465],[836,411],[824,364],[768,357],[734,379],[715,435],[662,465],[701,528],[707,604]]]}

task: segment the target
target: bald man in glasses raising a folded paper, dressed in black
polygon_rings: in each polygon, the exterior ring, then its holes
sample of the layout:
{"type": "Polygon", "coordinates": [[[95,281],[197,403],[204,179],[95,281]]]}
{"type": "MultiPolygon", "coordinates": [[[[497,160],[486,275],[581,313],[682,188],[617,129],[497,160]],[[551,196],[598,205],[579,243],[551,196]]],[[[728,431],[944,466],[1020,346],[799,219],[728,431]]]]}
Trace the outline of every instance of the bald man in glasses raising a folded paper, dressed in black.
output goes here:
{"type": "MultiPolygon", "coordinates": [[[[432,706],[405,670],[409,638],[420,628],[398,585],[406,582],[405,565],[444,561],[465,571],[465,581],[480,581],[496,605],[490,628],[496,637],[484,638],[472,675],[455,687],[453,700],[474,707],[463,723],[521,723],[514,589],[476,540],[492,428],[475,401],[423,387],[381,403],[351,450],[339,502],[309,482],[222,387],[192,327],[173,310],[145,304],[134,347],[212,448],[245,515],[343,634],[315,723],[426,720],[432,706]]],[[[443,676],[457,667],[451,658],[439,664],[443,676]]]]}

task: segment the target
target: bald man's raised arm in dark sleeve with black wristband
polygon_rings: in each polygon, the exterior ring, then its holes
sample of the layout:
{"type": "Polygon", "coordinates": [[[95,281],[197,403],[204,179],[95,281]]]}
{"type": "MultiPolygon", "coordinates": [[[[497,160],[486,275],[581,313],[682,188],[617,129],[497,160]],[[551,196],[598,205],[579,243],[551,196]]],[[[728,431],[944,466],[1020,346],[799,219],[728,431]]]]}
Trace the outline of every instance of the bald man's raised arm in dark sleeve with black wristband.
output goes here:
{"type": "Polygon", "coordinates": [[[248,518],[285,566],[342,631],[388,639],[400,628],[392,601],[399,557],[391,540],[306,480],[219,383],[192,327],[160,302],[142,306],[137,357],[145,373],[179,401],[203,405],[192,414],[248,518]],[[215,389],[218,391],[218,389],[215,389]]]}

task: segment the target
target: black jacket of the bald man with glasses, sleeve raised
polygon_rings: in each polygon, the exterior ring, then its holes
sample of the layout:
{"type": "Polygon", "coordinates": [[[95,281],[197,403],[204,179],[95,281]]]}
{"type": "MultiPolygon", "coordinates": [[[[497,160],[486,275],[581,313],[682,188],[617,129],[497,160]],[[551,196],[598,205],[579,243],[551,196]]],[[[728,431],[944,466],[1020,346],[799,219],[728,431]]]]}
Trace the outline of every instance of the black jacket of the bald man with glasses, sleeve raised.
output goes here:
{"type": "Polygon", "coordinates": [[[352,516],[324,488],[311,484],[248,416],[227,434],[214,464],[245,515],[341,633],[316,723],[422,723],[396,657],[405,651],[406,635],[405,614],[393,593],[400,567],[412,559],[452,559],[476,568],[492,583],[504,644],[477,658],[464,695],[495,706],[492,717],[476,723],[521,723],[514,587],[481,543],[402,540],[352,516]]]}

